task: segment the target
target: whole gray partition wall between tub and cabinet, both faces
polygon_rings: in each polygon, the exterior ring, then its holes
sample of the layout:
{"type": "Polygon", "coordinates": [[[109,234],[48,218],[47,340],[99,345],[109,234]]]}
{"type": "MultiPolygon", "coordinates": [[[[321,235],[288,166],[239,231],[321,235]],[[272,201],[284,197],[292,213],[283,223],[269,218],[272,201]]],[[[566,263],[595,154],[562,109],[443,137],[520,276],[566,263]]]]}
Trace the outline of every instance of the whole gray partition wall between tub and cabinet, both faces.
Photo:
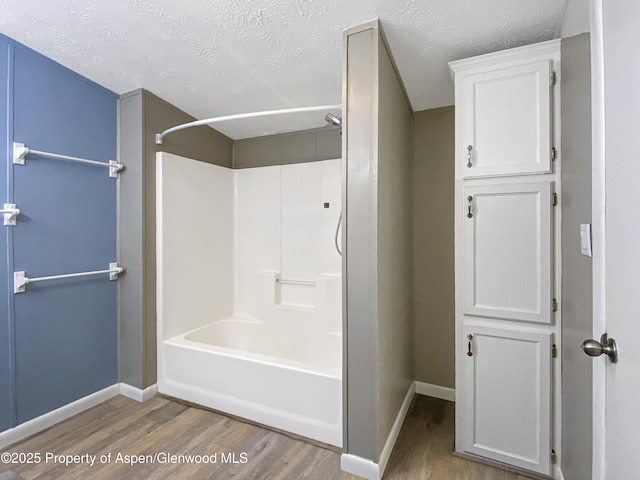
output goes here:
{"type": "Polygon", "coordinates": [[[413,380],[412,112],[379,22],[344,45],[344,449],[378,462],[413,380]]]}

